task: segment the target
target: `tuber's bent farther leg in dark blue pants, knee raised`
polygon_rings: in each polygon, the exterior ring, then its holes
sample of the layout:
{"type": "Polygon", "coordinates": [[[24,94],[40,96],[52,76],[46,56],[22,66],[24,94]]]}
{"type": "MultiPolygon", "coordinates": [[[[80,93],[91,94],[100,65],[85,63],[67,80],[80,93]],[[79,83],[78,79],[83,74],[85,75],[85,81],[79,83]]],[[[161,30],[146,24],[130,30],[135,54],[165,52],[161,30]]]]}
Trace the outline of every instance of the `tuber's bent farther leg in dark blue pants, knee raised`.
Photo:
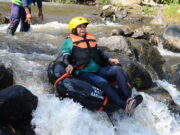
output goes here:
{"type": "Polygon", "coordinates": [[[123,93],[123,96],[127,100],[131,97],[131,91],[128,89],[128,78],[120,66],[110,66],[102,68],[98,75],[106,78],[107,80],[117,81],[119,90],[123,93]]]}

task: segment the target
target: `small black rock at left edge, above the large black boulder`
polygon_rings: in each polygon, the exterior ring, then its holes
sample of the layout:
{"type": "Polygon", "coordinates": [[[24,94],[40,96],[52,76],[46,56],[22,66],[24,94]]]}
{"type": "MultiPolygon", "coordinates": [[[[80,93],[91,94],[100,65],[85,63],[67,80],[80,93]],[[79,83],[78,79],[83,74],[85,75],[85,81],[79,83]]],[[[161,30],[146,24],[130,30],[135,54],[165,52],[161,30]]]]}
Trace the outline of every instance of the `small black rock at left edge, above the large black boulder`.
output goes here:
{"type": "Polygon", "coordinates": [[[13,71],[0,64],[0,90],[13,85],[13,71]]]}

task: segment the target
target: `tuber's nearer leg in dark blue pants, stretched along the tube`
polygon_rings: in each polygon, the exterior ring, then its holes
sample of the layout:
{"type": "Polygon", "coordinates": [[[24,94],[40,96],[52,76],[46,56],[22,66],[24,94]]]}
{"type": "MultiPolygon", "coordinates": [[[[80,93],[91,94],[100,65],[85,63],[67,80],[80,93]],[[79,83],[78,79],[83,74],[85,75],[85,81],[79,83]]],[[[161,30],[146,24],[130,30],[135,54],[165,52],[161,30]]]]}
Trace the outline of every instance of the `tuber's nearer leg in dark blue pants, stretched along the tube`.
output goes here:
{"type": "Polygon", "coordinates": [[[116,93],[109,82],[104,79],[103,77],[96,75],[95,73],[90,72],[83,72],[78,75],[81,80],[87,81],[90,84],[102,89],[106,96],[114,102],[115,104],[119,105],[121,108],[125,108],[126,102],[123,101],[118,93],[116,93]]]}

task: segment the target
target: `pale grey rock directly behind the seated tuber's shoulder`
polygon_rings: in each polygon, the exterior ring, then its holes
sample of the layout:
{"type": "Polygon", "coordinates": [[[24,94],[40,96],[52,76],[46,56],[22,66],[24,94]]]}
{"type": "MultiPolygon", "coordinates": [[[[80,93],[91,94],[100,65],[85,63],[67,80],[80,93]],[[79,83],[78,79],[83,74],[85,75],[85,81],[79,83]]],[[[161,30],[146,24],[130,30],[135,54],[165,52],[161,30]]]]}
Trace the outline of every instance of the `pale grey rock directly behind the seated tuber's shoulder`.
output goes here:
{"type": "Polygon", "coordinates": [[[121,52],[128,56],[133,55],[130,42],[123,36],[102,37],[98,39],[98,45],[107,47],[112,51],[121,52]]]}

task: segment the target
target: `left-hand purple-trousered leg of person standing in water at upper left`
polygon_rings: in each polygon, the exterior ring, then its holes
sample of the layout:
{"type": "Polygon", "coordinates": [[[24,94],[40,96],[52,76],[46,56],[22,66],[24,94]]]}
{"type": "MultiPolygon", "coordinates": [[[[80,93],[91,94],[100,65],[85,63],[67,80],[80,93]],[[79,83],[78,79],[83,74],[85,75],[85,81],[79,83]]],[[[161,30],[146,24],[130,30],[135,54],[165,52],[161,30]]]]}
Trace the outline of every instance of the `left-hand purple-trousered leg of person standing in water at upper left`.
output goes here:
{"type": "Polygon", "coordinates": [[[7,34],[14,35],[20,21],[20,6],[12,3],[11,5],[11,21],[7,29],[7,34]]]}

